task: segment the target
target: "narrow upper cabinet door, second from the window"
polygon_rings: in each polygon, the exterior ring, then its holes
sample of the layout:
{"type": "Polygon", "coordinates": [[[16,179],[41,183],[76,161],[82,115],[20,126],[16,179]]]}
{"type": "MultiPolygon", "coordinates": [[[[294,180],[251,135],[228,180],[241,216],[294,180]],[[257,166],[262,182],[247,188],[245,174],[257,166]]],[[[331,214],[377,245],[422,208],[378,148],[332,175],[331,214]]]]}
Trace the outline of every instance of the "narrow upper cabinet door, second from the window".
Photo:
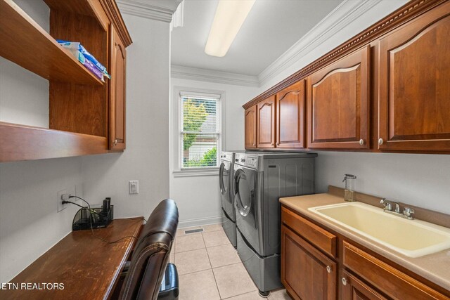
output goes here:
{"type": "Polygon", "coordinates": [[[275,147],[275,95],[257,103],[257,148],[275,147]]]}

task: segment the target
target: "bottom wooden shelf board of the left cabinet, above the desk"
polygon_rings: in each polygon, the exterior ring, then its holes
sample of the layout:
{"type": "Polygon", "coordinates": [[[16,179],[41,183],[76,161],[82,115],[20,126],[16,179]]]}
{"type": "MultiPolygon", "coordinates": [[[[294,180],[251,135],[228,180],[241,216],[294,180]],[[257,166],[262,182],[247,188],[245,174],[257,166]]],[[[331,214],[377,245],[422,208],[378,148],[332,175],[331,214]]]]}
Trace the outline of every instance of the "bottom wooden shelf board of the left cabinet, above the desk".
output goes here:
{"type": "Polygon", "coordinates": [[[110,152],[104,136],[0,122],[0,162],[110,152]]]}

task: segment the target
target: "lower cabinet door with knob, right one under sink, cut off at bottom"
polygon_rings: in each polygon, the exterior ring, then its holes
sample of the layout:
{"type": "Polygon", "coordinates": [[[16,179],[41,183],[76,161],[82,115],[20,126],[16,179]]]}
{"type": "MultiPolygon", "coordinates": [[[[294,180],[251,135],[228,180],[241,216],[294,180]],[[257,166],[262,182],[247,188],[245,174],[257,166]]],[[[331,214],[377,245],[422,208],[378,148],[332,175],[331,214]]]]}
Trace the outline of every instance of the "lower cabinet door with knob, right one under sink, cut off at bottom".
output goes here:
{"type": "Polygon", "coordinates": [[[387,300],[380,293],[366,285],[347,271],[342,271],[342,299],[346,300],[387,300]]]}

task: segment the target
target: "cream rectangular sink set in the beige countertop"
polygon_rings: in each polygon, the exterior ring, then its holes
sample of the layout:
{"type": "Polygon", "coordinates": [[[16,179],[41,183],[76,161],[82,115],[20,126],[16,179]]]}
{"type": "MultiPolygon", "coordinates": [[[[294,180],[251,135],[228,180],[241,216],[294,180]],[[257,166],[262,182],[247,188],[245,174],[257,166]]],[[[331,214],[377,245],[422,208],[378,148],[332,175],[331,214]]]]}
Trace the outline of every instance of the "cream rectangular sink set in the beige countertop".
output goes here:
{"type": "Polygon", "coordinates": [[[365,203],[332,204],[309,211],[409,257],[450,248],[450,228],[403,219],[365,203]]]}

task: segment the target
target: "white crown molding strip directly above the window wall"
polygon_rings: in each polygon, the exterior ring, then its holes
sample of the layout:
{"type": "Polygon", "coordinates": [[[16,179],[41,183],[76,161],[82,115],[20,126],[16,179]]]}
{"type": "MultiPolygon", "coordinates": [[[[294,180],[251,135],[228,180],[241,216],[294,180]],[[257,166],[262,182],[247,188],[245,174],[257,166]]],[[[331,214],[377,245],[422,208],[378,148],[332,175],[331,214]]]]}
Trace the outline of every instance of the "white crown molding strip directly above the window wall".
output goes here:
{"type": "Polygon", "coordinates": [[[257,86],[259,80],[256,76],[200,69],[198,67],[184,67],[172,65],[171,77],[197,81],[215,82],[217,84],[233,84],[237,86],[257,86]]]}

